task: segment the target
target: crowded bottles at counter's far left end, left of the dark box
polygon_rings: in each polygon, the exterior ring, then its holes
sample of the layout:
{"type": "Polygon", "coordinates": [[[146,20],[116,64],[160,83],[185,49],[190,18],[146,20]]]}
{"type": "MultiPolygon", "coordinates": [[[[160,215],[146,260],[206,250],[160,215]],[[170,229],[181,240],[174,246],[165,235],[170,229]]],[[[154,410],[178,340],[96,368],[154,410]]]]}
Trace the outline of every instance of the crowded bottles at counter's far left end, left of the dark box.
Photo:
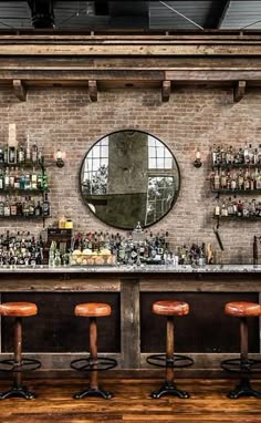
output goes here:
{"type": "Polygon", "coordinates": [[[30,233],[0,235],[0,266],[36,266],[42,264],[43,243],[41,236],[30,233]]]}

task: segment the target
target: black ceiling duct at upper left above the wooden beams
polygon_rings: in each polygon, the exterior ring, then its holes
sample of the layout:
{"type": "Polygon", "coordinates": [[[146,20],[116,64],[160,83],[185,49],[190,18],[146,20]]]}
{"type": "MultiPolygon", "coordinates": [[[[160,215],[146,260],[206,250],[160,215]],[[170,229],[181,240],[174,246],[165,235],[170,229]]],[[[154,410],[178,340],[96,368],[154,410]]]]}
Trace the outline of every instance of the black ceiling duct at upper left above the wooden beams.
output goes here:
{"type": "Polygon", "coordinates": [[[34,28],[54,28],[52,0],[28,0],[34,28]]]}

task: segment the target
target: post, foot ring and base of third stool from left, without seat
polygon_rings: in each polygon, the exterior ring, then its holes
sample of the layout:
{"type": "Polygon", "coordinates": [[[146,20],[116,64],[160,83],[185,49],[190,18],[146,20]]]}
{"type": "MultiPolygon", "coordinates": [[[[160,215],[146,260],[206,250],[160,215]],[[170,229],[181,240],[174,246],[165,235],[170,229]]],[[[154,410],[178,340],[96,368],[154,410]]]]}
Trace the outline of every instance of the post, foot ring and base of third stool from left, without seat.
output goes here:
{"type": "Polygon", "coordinates": [[[174,318],[167,317],[167,334],[166,334],[166,354],[154,354],[147,358],[149,364],[166,369],[166,380],[163,386],[150,393],[150,398],[159,399],[164,395],[178,396],[188,399],[189,394],[186,391],[177,389],[174,383],[174,369],[187,368],[194,364],[194,360],[187,355],[174,353],[174,318]]]}

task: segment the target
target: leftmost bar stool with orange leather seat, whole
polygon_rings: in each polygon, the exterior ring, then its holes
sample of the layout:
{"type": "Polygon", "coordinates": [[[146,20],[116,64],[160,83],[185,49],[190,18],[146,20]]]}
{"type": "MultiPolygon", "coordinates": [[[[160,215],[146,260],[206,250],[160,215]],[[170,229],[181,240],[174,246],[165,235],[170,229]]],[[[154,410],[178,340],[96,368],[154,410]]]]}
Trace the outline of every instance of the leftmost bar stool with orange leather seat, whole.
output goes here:
{"type": "Polygon", "coordinates": [[[13,385],[0,394],[0,399],[23,398],[32,400],[35,394],[22,385],[22,371],[32,371],[41,367],[39,360],[22,358],[22,318],[35,316],[38,307],[33,302],[6,302],[0,305],[0,314],[14,317],[14,357],[10,360],[0,360],[0,371],[13,372],[13,385]]]}

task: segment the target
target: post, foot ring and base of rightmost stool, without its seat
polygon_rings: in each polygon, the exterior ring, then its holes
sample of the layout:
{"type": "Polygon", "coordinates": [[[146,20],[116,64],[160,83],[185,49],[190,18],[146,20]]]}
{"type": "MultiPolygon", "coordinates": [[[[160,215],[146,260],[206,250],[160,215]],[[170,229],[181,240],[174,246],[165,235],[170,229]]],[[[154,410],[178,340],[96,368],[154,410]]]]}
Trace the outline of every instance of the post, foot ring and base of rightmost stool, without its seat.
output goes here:
{"type": "Polygon", "coordinates": [[[246,317],[240,318],[240,358],[228,359],[221,362],[221,368],[228,372],[240,374],[239,384],[228,393],[228,398],[237,400],[240,396],[261,398],[261,392],[250,384],[252,373],[261,372],[261,360],[248,358],[248,322],[246,317]]]}

